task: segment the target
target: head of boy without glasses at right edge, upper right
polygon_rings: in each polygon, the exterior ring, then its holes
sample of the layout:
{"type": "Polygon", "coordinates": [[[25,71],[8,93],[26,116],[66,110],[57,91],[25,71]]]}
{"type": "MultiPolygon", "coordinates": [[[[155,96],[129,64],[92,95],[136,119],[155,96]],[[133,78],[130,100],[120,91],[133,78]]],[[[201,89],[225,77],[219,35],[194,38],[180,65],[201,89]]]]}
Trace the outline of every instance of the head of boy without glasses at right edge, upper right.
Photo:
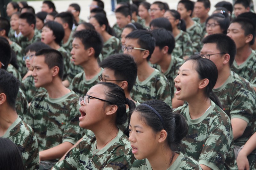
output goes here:
{"type": "Polygon", "coordinates": [[[248,18],[236,18],[231,21],[227,35],[235,41],[236,49],[251,46],[255,41],[255,24],[248,18]]]}

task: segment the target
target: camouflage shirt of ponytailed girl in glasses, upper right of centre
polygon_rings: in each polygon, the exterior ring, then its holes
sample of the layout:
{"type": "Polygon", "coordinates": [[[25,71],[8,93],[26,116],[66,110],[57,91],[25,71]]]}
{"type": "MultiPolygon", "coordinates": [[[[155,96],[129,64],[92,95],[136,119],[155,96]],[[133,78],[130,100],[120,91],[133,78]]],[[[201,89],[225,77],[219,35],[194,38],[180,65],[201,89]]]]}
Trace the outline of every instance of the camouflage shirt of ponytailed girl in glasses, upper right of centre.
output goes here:
{"type": "Polygon", "coordinates": [[[172,55],[182,58],[184,56],[191,56],[194,54],[192,41],[187,32],[180,30],[179,35],[175,37],[175,48],[172,55]]]}

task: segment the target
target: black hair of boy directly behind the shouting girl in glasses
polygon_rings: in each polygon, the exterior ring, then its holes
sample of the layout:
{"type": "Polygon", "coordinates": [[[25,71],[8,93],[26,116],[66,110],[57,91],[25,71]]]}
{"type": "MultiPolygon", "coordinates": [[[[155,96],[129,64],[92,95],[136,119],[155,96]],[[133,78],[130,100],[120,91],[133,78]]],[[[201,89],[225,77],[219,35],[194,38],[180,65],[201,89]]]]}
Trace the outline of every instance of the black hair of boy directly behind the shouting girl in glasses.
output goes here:
{"type": "Polygon", "coordinates": [[[125,80],[128,82],[128,92],[131,92],[132,87],[137,78],[137,65],[131,55],[114,54],[109,55],[100,63],[101,68],[113,70],[116,79],[125,80]]]}

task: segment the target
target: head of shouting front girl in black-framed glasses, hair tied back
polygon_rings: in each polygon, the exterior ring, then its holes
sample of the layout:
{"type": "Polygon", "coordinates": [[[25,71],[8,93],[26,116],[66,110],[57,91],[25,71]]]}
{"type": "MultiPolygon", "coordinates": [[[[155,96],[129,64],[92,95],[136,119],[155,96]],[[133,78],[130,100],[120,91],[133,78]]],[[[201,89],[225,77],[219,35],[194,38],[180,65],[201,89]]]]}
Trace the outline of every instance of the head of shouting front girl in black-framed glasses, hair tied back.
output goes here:
{"type": "Polygon", "coordinates": [[[125,97],[124,90],[110,82],[99,82],[92,86],[85,96],[79,97],[79,103],[79,126],[92,131],[102,121],[116,126],[124,124],[128,117],[126,104],[130,110],[135,107],[133,101],[125,97]]]}

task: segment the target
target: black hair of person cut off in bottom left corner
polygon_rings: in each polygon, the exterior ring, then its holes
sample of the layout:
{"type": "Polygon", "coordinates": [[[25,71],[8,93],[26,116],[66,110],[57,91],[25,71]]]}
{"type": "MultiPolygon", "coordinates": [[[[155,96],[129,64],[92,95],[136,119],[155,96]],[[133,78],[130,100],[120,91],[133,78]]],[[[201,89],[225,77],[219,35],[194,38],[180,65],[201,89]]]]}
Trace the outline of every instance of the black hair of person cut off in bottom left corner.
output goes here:
{"type": "Polygon", "coordinates": [[[10,139],[0,137],[0,169],[25,170],[19,148],[10,139]]]}

